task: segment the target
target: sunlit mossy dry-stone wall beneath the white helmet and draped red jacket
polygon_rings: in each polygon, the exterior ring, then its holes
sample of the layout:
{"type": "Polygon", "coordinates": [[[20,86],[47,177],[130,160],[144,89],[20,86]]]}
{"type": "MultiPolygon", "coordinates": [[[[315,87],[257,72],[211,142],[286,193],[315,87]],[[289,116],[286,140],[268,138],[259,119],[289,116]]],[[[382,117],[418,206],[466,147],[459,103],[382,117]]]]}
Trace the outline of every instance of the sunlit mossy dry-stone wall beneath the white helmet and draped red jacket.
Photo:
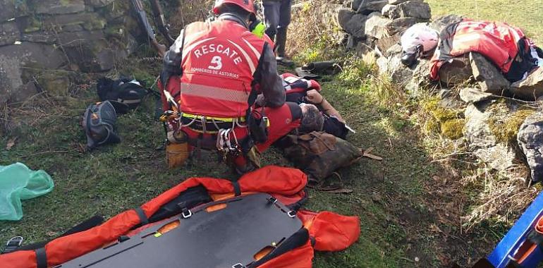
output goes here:
{"type": "Polygon", "coordinates": [[[440,81],[431,81],[429,59],[404,66],[400,44],[402,33],[416,23],[441,32],[461,20],[449,15],[430,22],[431,17],[429,5],[422,0],[354,0],[336,8],[336,21],[348,34],[347,48],[364,59],[375,59],[379,75],[389,76],[411,97],[435,94],[441,97],[440,109],[463,111],[463,118],[453,120],[465,122],[459,126],[460,138],[481,162],[511,178],[517,176],[518,166],[527,166],[532,179],[541,180],[542,112],[515,99],[535,101],[543,96],[543,68],[511,84],[491,61],[468,53],[444,64],[440,81]],[[500,99],[502,95],[509,98],[500,99]]]}

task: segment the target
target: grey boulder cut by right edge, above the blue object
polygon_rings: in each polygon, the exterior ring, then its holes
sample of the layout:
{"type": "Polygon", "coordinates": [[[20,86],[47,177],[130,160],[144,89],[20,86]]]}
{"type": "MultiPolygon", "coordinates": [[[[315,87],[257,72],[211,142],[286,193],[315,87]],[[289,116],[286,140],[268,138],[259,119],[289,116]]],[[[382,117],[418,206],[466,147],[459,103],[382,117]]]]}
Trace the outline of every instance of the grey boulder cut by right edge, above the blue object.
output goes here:
{"type": "Polygon", "coordinates": [[[532,181],[543,180],[543,111],[528,116],[517,135],[520,150],[530,166],[532,181]]]}

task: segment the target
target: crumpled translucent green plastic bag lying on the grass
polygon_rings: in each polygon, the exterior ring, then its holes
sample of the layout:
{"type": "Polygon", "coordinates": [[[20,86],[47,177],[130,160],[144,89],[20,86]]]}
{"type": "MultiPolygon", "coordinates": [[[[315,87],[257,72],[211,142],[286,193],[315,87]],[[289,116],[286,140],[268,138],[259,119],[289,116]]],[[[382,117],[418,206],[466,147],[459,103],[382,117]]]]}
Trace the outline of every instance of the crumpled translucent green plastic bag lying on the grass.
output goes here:
{"type": "Polygon", "coordinates": [[[21,163],[0,166],[0,220],[20,220],[20,200],[45,195],[53,187],[53,179],[45,171],[32,171],[21,163]]]}

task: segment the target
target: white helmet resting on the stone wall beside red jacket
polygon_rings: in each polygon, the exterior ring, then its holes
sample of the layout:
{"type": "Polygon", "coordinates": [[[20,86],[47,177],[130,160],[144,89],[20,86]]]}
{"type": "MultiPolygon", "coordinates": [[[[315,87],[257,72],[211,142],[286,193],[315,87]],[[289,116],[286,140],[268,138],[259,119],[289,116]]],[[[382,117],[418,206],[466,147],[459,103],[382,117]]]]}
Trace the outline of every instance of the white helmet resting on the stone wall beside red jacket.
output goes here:
{"type": "Polygon", "coordinates": [[[427,23],[417,23],[401,36],[401,47],[405,54],[417,53],[417,47],[422,45],[422,52],[426,53],[437,47],[439,33],[430,28],[427,23]]]}

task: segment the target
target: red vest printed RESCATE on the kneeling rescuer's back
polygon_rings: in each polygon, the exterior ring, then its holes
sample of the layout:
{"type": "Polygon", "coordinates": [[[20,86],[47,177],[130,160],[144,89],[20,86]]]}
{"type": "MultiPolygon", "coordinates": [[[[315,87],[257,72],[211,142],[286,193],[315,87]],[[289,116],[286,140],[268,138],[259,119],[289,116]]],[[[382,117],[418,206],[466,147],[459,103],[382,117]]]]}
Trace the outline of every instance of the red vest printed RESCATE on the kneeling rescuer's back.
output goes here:
{"type": "Polygon", "coordinates": [[[185,28],[181,110],[188,114],[245,116],[264,39],[231,20],[185,28]]]}

